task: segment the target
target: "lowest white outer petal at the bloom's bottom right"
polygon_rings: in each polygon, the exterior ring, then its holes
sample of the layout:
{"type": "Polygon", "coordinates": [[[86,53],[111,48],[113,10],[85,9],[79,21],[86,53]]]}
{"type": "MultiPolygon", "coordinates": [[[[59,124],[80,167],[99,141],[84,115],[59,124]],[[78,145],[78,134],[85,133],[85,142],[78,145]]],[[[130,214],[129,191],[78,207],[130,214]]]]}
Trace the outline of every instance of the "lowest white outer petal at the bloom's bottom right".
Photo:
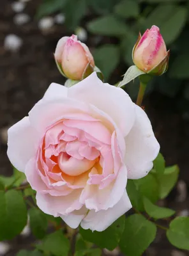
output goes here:
{"type": "Polygon", "coordinates": [[[120,216],[125,214],[125,212],[130,210],[131,207],[132,204],[130,203],[128,195],[125,191],[121,200],[119,200],[119,202],[114,205],[114,207],[107,209],[107,211],[89,211],[86,218],[81,221],[80,225],[84,229],[90,228],[93,231],[96,230],[101,232],[109,227],[120,216]]]}

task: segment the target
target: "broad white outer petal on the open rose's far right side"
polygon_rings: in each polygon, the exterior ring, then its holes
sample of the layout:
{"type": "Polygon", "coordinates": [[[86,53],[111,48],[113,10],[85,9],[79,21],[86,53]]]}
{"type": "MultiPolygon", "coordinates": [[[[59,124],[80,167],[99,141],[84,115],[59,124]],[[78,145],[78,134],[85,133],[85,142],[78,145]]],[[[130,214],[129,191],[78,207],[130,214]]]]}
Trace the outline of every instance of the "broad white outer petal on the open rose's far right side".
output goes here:
{"type": "Polygon", "coordinates": [[[153,168],[153,160],[160,151],[151,123],[146,113],[136,105],[136,119],[132,130],[125,137],[125,164],[128,179],[140,179],[153,168]]]}

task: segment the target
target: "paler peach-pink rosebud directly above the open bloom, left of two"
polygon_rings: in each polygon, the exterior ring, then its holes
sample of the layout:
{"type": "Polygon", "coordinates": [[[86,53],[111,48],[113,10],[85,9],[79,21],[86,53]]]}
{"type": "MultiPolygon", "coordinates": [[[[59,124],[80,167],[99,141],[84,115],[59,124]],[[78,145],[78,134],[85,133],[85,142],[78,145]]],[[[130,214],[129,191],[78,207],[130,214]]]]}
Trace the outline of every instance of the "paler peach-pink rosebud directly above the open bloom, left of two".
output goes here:
{"type": "Polygon", "coordinates": [[[76,35],[61,38],[54,56],[64,76],[70,79],[82,80],[94,70],[94,60],[89,48],[77,40],[76,35]]]}

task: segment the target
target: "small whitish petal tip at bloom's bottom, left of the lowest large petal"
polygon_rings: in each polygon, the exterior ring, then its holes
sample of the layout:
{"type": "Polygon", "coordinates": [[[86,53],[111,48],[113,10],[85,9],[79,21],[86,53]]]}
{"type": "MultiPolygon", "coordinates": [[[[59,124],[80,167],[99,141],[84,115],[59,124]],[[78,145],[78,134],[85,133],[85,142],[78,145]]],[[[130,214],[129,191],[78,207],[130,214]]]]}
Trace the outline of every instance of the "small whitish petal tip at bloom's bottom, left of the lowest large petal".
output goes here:
{"type": "Polygon", "coordinates": [[[86,214],[87,214],[87,209],[86,207],[83,206],[80,210],[73,211],[67,216],[61,215],[61,218],[71,228],[77,228],[80,224],[80,221],[82,221],[82,219],[86,216],[86,214]]]}

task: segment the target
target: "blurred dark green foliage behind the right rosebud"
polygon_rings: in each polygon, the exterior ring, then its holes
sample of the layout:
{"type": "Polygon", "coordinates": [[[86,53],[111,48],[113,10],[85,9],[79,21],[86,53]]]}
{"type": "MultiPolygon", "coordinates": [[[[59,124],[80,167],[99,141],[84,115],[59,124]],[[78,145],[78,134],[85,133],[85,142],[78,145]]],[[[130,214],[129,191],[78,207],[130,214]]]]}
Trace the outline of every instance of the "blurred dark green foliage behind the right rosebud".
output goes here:
{"type": "MultiPolygon", "coordinates": [[[[155,78],[151,81],[150,92],[158,90],[169,97],[175,97],[180,90],[183,90],[185,96],[185,86],[181,86],[181,84],[189,79],[187,69],[189,54],[188,1],[43,0],[38,9],[38,17],[47,14],[53,15],[54,12],[64,13],[68,33],[74,33],[77,26],[84,24],[89,33],[103,36],[98,38],[97,43],[92,42],[91,51],[96,65],[98,63],[97,66],[105,74],[105,79],[109,79],[111,72],[119,63],[125,63],[125,70],[126,67],[132,65],[131,52],[139,31],[144,33],[147,28],[156,24],[161,29],[168,49],[171,49],[171,61],[167,74],[162,79],[155,78]],[[104,42],[107,42],[107,36],[110,36],[108,42],[112,43],[109,47],[103,45],[104,42]],[[103,47],[106,51],[104,58],[100,56],[103,47]],[[117,54],[114,58],[114,51],[119,51],[121,54],[117,54]]],[[[125,89],[130,95],[136,97],[137,86],[127,85],[125,89]]],[[[188,97],[186,96],[185,99],[188,100],[188,97]]],[[[184,104],[184,106],[187,108],[189,104],[184,104]]]]}

